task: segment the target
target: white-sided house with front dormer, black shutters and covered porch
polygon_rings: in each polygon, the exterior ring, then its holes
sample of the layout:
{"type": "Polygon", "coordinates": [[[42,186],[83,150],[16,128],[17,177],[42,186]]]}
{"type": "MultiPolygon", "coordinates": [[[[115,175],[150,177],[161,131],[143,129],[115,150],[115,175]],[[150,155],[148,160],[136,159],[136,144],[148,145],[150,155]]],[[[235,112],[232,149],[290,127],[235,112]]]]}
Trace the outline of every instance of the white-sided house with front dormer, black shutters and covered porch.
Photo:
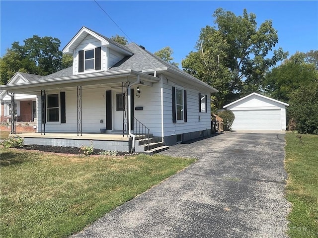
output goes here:
{"type": "MultiPolygon", "coordinates": [[[[130,137],[128,149],[119,142],[95,144],[121,151],[135,148],[135,136],[145,134],[141,127],[165,145],[210,134],[210,95],[218,91],[144,47],[122,46],[82,27],[63,53],[73,56],[72,67],[2,86],[9,93],[37,95],[37,132],[78,133],[68,139],[70,146],[79,145],[82,133],[122,134],[130,137]]],[[[66,145],[59,139],[45,143],[66,145]]]]}

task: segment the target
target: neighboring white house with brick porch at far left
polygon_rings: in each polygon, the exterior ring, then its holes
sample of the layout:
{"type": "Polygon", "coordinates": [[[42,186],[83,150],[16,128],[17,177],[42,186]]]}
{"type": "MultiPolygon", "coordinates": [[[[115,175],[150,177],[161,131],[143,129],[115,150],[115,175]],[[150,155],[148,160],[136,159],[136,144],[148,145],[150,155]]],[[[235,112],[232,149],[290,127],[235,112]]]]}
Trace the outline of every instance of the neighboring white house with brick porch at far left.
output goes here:
{"type": "MultiPolygon", "coordinates": [[[[27,82],[32,82],[38,80],[43,76],[17,72],[10,79],[7,85],[23,84],[27,82]]],[[[14,94],[15,104],[12,107],[11,95],[7,94],[7,91],[0,91],[0,121],[10,122],[12,116],[12,110],[14,110],[13,115],[16,117],[17,121],[23,122],[33,122],[36,121],[36,95],[29,94],[14,94]]]]}

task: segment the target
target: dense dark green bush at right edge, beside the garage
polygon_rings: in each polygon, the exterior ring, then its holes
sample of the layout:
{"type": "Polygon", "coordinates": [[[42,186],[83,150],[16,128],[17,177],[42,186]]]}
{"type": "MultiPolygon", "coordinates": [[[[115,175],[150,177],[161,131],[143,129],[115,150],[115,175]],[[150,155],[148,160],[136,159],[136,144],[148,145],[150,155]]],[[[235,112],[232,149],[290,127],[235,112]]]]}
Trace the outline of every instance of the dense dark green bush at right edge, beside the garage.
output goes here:
{"type": "Polygon", "coordinates": [[[288,114],[299,133],[318,135],[318,81],[291,92],[288,114]]]}

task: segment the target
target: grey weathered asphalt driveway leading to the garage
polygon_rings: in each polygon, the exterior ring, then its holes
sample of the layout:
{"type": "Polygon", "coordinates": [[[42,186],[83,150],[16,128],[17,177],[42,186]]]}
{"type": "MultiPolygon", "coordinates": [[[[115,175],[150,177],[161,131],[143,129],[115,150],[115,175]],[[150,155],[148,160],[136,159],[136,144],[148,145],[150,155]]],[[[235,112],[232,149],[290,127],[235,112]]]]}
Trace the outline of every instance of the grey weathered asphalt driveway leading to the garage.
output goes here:
{"type": "Polygon", "coordinates": [[[161,154],[196,163],[74,238],[283,238],[284,134],[224,133],[161,154]]]}

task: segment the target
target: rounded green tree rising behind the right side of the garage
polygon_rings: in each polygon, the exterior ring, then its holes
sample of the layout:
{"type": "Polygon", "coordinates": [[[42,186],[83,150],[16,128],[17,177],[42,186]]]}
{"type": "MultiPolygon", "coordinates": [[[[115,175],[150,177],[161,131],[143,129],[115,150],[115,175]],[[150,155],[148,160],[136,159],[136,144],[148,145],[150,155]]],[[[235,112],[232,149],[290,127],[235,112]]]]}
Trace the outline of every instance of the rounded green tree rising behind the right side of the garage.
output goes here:
{"type": "MultiPolygon", "coordinates": [[[[311,51],[313,52],[313,51],[311,51]]],[[[272,98],[288,102],[290,94],[301,85],[318,80],[318,70],[308,53],[296,52],[265,76],[264,90],[272,98]]]]}

